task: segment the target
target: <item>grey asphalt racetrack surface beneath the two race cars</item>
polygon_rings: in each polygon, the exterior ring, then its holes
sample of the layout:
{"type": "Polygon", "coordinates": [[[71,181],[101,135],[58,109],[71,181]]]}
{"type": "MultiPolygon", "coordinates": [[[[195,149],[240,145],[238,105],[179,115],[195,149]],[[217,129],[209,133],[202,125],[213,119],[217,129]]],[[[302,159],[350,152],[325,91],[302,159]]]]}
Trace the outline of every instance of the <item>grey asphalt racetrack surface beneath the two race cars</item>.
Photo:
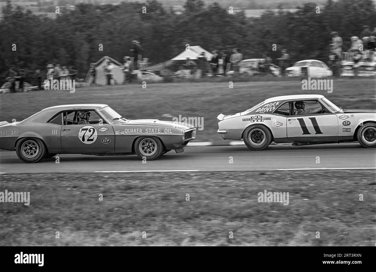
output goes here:
{"type": "MultiPolygon", "coordinates": [[[[92,173],[144,171],[255,171],[288,169],[376,168],[376,149],[359,143],[293,147],[271,145],[263,151],[245,146],[186,147],[143,163],[136,155],[58,155],[36,164],[21,162],[15,152],[0,152],[0,173],[92,173]],[[232,158],[231,158],[232,157],[232,158]],[[320,163],[318,162],[320,160],[320,163]],[[230,161],[232,160],[232,163],[230,161]]],[[[140,173],[141,174],[141,173],[140,173]]]]}

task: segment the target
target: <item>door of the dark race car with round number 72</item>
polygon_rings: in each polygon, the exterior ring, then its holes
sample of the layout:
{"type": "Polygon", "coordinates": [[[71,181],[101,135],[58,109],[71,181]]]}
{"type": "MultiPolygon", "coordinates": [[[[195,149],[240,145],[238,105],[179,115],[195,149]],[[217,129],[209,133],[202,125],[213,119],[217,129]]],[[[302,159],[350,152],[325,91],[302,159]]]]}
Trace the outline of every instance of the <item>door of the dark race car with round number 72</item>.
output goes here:
{"type": "Polygon", "coordinates": [[[91,111],[89,124],[75,124],[77,112],[67,112],[61,128],[61,148],[68,153],[114,153],[115,133],[111,125],[99,122],[100,116],[91,111]],[[94,116],[93,116],[94,115],[94,116]]]}

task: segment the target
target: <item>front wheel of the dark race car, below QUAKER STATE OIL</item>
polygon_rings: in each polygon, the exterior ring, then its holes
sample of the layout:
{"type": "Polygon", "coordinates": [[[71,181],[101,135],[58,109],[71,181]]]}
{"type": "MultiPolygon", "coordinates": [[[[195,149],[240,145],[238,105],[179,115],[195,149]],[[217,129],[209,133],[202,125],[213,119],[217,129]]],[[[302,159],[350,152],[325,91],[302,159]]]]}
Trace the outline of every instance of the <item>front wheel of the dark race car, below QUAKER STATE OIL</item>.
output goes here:
{"type": "Polygon", "coordinates": [[[158,137],[142,136],[135,141],[134,149],[139,158],[152,161],[162,155],[163,144],[158,137]]]}

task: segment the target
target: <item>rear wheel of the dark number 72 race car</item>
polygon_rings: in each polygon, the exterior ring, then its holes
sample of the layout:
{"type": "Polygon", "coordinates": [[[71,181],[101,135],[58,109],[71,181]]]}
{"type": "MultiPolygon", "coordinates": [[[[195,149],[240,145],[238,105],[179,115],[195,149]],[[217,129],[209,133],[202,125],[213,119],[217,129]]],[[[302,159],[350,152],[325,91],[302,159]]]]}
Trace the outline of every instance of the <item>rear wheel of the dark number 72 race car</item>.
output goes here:
{"type": "Polygon", "coordinates": [[[22,138],[16,144],[18,158],[26,163],[40,161],[46,155],[46,147],[38,138],[22,138]]]}

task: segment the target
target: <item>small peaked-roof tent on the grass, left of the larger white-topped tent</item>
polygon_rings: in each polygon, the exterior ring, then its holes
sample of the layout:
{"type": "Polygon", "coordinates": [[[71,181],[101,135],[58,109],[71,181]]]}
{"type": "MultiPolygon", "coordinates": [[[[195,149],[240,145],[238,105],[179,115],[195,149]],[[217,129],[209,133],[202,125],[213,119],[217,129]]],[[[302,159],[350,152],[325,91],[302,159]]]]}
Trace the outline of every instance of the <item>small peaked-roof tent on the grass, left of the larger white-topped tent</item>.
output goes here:
{"type": "MultiPolygon", "coordinates": [[[[111,61],[112,65],[115,66],[115,68],[112,70],[113,72],[112,77],[114,78],[114,81],[115,81],[114,83],[122,84],[124,81],[124,72],[122,69],[120,69],[120,66],[122,66],[122,64],[118,62],[117,60],[112,59],[112,57],[109,57],[109,56],[102,57],[100,60],[98,60],[94,64],[94,68],[96,69],[96,83],[100,86],[107,84],[105,66],[107,65],[108,60],[111,61]]],[[[92,82],[92,75],[89,69],[89,72],[85,78],[85,83],[90,84],[91,82],[92,82]]],[[[114,84],[114,83],[111,82],[111,84],[114,84]]]]}

